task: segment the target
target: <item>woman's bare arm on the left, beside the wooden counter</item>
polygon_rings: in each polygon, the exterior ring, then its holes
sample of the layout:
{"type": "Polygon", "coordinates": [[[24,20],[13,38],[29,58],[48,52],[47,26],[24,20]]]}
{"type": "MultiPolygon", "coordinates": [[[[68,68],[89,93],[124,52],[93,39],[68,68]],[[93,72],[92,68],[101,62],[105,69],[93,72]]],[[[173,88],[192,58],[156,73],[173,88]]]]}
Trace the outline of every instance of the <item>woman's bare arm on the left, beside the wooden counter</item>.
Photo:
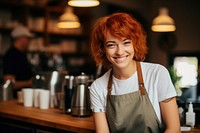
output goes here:
{"type": "Polygon", "coordinates": [[[109,127],[105,112],[93,113],[96,133],[109,133],[109,127]]]}

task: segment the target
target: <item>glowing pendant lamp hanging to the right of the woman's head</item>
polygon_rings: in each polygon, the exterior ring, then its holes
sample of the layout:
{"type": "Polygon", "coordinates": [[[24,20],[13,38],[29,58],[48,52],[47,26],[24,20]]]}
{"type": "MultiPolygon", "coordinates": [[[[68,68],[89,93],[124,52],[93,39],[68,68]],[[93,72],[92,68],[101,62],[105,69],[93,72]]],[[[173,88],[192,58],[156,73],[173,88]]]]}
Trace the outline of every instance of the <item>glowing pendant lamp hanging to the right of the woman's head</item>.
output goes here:
{"type": "Polygon", "coordinates": [[[155,32],[172,32],[176,30],[174,20],[168,15],[167,8],[160,8],[159,15],[153,19],[151,29],[155,32]]]}

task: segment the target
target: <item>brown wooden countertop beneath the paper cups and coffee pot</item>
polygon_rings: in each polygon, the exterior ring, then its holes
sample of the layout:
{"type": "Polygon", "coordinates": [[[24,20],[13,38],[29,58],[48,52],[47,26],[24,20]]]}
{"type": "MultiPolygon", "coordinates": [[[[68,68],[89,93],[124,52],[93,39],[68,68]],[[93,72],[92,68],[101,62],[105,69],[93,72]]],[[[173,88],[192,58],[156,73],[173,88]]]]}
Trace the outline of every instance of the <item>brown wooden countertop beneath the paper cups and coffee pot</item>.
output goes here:
{"type": "Polygon", "coordinates": [[[34,107],[24,107],[16,100],[0,102],[0,116],[73,132],[88,133],[95,130],[92,116],[73,117],[64,114],[60,109],[41,110],[34,107]]]}

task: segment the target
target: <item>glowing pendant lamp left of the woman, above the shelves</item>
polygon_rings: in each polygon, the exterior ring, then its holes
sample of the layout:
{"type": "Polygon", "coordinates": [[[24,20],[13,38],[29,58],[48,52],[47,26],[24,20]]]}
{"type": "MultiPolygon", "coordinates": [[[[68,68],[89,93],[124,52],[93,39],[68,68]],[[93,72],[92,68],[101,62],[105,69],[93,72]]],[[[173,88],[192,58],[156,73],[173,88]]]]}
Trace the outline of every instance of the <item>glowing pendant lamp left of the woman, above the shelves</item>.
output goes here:
{"type": "Polygon", "coordinates": [[[81,26],[78,17],[73,13],[72,7],[66,7],[65,12],[59,17],[58,28],[79,28],[81,26]]]}

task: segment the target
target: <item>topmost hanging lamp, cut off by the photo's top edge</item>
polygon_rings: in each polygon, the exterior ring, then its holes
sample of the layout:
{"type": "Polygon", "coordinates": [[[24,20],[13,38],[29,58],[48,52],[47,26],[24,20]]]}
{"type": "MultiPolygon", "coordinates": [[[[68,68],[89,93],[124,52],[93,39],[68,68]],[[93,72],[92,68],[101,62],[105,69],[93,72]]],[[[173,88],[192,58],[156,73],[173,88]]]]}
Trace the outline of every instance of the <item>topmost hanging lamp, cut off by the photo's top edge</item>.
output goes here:
{"type": "Polygon", "coordinates": [[[98,6],[100,2],[98,0],[69,0],[68,5],[75,7],[94,7],[98,6]]]}

